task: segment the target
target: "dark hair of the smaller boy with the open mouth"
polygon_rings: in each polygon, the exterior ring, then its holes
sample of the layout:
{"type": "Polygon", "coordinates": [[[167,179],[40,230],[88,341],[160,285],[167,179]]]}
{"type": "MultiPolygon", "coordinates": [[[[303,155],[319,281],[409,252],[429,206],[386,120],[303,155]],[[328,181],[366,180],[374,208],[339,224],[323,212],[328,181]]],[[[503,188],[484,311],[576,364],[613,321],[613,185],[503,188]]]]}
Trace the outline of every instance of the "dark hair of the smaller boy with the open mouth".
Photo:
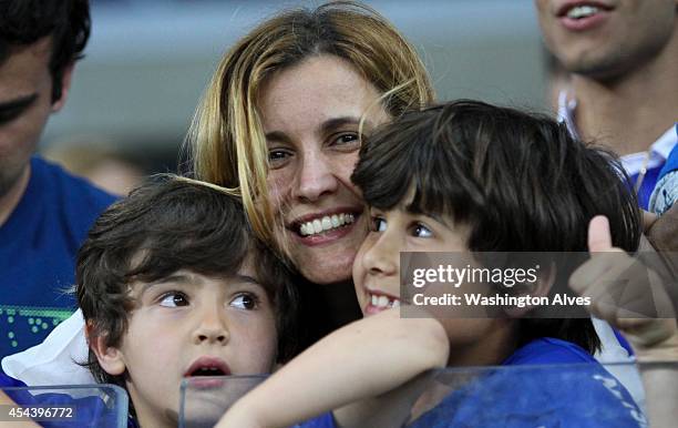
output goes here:
{"type": "MultiPolygon", "coordinates": [[[[235,275],[248,254],[276,310],[278,360],[284,361],[295,350],[291,276],[254,238],[240,200],[205,184],[148,182],[101,214],[78,254],[78,304],[91,335],[119,346],[135,306],[130,283],[157,281],[178,269],[235,275]]],[[[125,386],[124,376],[109,375],[91,349],[88,365],[97,381],[125,386]]]]}

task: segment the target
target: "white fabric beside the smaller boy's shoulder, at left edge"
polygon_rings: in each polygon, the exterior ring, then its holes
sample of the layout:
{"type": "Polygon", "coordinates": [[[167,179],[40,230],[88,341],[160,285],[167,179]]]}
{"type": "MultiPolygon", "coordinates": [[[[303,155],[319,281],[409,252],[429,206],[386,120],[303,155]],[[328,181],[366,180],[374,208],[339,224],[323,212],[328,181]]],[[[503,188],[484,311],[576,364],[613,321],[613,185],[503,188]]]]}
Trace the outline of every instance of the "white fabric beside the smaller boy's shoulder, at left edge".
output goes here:
{"type": "Polygon", "coordinates": [[[2,370],[28,386],[96,384],[86,367],[84,319],[78,309],[54,328],[42,344],[2,359],[2,370]]]}

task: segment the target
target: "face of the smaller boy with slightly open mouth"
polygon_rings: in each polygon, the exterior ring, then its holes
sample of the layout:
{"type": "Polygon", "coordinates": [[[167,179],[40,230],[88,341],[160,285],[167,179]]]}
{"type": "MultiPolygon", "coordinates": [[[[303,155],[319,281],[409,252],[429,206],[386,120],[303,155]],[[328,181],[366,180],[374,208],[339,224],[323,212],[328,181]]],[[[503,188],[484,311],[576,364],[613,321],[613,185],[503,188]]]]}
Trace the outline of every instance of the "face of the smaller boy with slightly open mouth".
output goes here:
{"type": "Polygon", "coordinates": [[[137,306],[122,344],[99,359],[112,375],[126,370],[142,425],[144,419],[176,425],[185,377],[270,371],[275,313],[251,266],[228,278],[177,271],[154,283],[134,283],[132,293],[137,306]]]}

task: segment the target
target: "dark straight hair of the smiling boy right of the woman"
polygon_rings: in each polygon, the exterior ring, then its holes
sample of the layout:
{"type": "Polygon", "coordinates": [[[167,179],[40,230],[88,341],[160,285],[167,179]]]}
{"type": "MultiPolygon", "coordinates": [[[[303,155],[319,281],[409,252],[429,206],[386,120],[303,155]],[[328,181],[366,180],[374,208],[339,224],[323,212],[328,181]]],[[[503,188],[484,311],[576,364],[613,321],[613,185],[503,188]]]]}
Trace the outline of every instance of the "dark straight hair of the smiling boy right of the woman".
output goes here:
{"type": "MultiPolygon", "coordinates": [[[[367,139],[351,176],[368,205],[446,215],[470,228],[472,252],[586,252],[588,222],[609,218],[613,244],[636,251],[640,213],[609,152],[553,119],[460,100],[411,112],[367,139]]],[[[589,318],[522,319],[537,337],[599,347],[589,318]]]]}

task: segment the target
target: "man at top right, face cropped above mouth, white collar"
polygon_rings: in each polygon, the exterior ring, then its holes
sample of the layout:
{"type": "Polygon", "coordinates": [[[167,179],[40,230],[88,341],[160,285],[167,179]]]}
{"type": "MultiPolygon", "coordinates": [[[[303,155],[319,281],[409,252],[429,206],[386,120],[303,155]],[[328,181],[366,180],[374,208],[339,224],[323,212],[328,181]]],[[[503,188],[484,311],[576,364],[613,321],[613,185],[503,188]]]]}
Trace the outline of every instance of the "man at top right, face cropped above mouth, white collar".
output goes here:
{"type": "Polygon", "coordinates": [[[559,94],[561,119],[575,136],[622,156],[647,210],[678,141],[676,1],[535,3],[546,47],[569,73],[571,85],[559,94]]]}

